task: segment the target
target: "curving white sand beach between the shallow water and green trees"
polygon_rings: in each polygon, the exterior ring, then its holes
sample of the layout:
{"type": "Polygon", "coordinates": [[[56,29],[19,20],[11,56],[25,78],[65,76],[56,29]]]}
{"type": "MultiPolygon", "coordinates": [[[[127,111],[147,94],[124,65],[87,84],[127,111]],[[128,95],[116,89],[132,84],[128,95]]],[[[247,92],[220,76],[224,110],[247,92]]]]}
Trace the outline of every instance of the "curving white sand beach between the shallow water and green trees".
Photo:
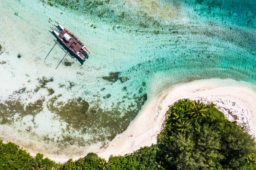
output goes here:
{"type": "MultiPolygon", "coordinates": [[[[177,85],[166,90],[163,95],[153,97],[143,106],[141,112],[130,123],[128,128],[118,134],[110,141],[107,148],[95,151],[99,157],[108,160],[110,155],[125,155],[132,153],[144,146],[156,143],[157,134],[162,129],[166,118],[166,111],[179,99],[189,98],[207,103],[213,102],[216,108],[222,111],[230,121],[246,123],[250,133],[256,136],[256,91],[252,90],[246,83],[235,80],[196,80],[193,82],[177,85]],[[232,85],[232,86],[230,86],[232,85]],[[234,105],[235,102],[235,105],[234,105]]],[[[7,140],[3,140],[7,142],[7,140]]],[[[18,143],[15,143],[18,145],[18,143]]],[[[20,145],[22,148],[22,145],[20,145]]],[[[23,147],[32,156],[36,152],[30,148],[23,147]]],[[[52,155],[43,153],[44,158],[48,157],[55,162],[64,163],[70,158],[77,160],[87,155],[52,155]]]]}

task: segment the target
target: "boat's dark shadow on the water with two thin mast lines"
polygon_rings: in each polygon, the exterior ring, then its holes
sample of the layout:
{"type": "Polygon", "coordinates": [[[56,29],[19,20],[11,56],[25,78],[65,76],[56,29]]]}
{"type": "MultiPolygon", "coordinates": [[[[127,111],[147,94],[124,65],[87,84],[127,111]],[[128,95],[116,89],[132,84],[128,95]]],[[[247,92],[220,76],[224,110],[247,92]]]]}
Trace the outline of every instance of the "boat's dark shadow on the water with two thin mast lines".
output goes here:
{"type": "MultiPolygon", "coordinates": [[[[53,31],[49,31],[49,32],[51,32],[51,34],[53,34],[53,35],[56,37],[56,35],[55,35],[55,33],[54,33],[53,31]]],[[[60,65],[60,63],[62,62],[62,60],[66,57],[66,55],[69,55],[70,57],[72,57],[72,59],[76,59],[77,61],[80,62],[81,65],[84,64],[84,61],[85,61],[85,60],[82,60],[80,57],[78,57],[78,56],[75,55],[72,51],[70,51],[69,48],[66,47],[66,45],[64,45],[64,44],[61,42],[61,40],[59,40],[59,39],[57,38],[56,40],[54,40],[54,42],[55,42],[55,44],[54,44],[54,46],[51,48],[51,50],[53,50],[53,48],[54,48],[55,45],[57,44],[59,47],[61,47],[61,49],[62,49],[64,52],[66,52],[66,54],[64,55],[64,57],[61,59],[61,61],[60,61],[59,64],[57,65],[57,67],[60,65]]],[[[51,53],[51,50],[50,50],[49,53],[46,55],[46,57],[45,57],[44,60],[46,60],[46,58],[48,57],[48,55],[51,53]]],[[[87,56],[86,59],[88,59],[88,57],[89,57],[89,56],[87,56]]],[[[80,66],[81,66],[81,65],[80,65],[80,66]]],[[[55,69],[57,69],[57,67],[56,67],[55,69]]]]}

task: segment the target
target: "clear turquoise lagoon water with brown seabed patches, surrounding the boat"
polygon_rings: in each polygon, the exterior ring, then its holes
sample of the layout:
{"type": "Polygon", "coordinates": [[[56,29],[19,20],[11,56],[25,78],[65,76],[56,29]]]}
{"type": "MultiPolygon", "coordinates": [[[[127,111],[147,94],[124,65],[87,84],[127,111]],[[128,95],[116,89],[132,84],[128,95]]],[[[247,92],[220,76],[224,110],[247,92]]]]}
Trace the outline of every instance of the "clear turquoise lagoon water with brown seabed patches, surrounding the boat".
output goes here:
{"type": "Polygon", "coordinates": [[[208,78],[255,85],[255,7],[235,0],[4,0],[0,137],[35,152],[95,152],[169,87],[208,78]],[[54,20],[91,51],[82,65],[69,55],[59,65],[65,52],[58,45],[47,56],[54,20]]]}

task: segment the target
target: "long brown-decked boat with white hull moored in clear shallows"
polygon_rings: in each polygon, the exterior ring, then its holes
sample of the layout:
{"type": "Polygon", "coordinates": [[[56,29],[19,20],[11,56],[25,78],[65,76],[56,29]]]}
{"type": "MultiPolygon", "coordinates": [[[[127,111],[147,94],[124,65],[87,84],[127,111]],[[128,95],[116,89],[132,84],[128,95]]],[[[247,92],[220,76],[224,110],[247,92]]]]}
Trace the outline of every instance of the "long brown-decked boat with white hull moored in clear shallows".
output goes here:
{"type": "MultiPolygon", "coordinates": [[[[55,21],[56,22],[56,21],[55,21]]],[[[57,23],[57,22],[56,22],[57,23]]],[[[90,54],[90,51],[84,46],[84,44],[78,40],[69,30],[61,26],[59,23],[55,29],[51,28],[55,35],[63,42],[63,44],[71,50],[75,55],[85,60],[90,54]]]]}

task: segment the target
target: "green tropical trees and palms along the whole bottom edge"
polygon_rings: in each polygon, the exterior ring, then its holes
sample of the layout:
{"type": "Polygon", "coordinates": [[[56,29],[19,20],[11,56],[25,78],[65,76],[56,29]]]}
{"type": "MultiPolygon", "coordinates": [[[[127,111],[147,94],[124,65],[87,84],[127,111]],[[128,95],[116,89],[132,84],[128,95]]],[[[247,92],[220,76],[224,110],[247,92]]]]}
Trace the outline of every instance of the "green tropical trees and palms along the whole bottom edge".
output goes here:
{"type": "Polygon", "coordinates": [[[179,100],[167,111],[156,145],[108,163],[95,153],[57,164],[43,154],[32,157],[13,143],[0,141],[0,170],[255,170],[256,143],[246,128],[199,101],[179,100]]]}

